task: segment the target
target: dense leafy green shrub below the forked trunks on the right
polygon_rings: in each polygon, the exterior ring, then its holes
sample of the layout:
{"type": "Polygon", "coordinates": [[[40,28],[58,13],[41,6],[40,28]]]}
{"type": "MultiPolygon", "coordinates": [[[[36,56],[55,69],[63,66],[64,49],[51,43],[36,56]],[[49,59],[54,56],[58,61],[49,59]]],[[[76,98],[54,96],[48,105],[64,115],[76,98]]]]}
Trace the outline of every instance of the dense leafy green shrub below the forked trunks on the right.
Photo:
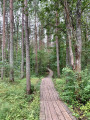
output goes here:
{"type": "Polygon", "coordinates": [[[67,102],[79,100],[86,103],[90,98],[90,72],[86,69],[80,73],[81,80],[78,80],[78,73],[73,72],[70,68],[63,69],[65,78],[65,88],[63,96],[67,102]]]}

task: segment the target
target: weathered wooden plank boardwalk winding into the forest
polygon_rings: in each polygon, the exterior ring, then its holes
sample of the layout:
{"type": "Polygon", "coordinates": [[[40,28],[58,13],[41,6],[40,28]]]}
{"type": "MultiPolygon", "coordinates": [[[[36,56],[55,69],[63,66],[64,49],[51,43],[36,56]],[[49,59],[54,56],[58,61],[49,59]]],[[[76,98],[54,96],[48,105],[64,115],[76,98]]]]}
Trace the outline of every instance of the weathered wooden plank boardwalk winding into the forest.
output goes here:
{"type": "Polygon", "coordinates": [[[76,120],[59,99],[51,78],[53,72],[49,71],[49,76],[42,79],[40,87],[40,120],[76,120]]]}

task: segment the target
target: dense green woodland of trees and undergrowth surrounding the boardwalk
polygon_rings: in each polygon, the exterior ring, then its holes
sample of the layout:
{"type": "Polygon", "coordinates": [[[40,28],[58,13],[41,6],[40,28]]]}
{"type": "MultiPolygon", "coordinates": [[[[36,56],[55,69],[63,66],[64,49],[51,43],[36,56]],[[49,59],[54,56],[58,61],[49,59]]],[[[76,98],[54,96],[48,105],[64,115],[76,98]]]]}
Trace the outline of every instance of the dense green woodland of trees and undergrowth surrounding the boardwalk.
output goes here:
{"type": "Polygon", "coordinates": [[[39,120],[47,68],[74,115],[89,118],[89,28],[89,0],[0,0],[0,120],[39,120]]]}

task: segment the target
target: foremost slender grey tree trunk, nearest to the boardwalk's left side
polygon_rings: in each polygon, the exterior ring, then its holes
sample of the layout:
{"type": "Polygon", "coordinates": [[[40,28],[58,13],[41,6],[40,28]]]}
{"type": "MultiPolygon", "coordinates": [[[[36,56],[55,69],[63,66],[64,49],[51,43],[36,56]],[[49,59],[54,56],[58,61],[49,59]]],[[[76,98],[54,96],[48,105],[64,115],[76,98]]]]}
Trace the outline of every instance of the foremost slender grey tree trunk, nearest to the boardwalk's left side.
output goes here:
{"type": "Polygon", "coordinates": [[[28,10],[27,0],[25,0],[25,40],[26,40],[26,91],[30,94],[30,50],[29,50],[29,31],[28,31],[28,10]]]}

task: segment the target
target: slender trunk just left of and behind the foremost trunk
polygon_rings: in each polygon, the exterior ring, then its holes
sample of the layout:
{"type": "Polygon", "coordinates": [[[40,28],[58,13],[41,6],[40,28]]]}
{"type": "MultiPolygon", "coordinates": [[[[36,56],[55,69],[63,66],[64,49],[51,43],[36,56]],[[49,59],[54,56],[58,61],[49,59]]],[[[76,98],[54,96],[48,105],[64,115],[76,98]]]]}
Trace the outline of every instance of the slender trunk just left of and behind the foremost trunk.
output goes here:
{"type": "Polygon", "coordinates": [[[22,8],[22,61],[21,61],[21,79],[24,78],[24,7],[22,8]]]}

